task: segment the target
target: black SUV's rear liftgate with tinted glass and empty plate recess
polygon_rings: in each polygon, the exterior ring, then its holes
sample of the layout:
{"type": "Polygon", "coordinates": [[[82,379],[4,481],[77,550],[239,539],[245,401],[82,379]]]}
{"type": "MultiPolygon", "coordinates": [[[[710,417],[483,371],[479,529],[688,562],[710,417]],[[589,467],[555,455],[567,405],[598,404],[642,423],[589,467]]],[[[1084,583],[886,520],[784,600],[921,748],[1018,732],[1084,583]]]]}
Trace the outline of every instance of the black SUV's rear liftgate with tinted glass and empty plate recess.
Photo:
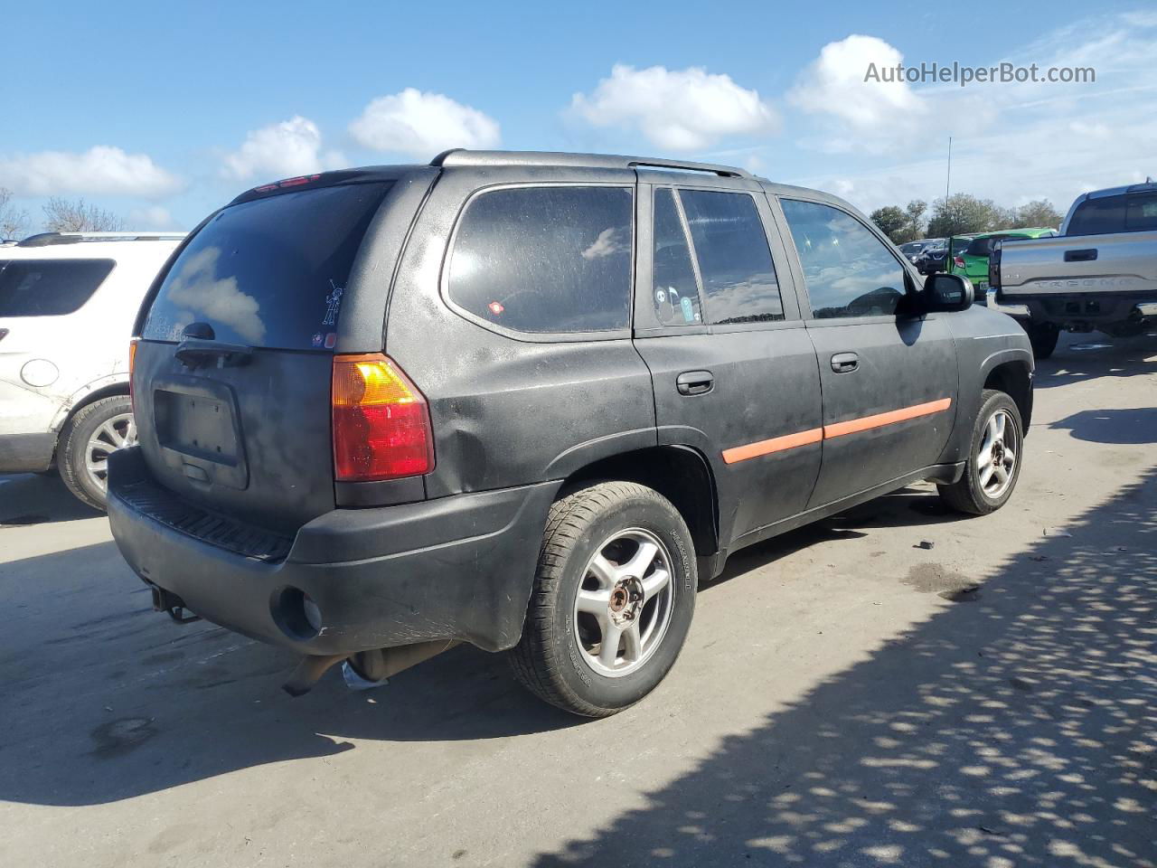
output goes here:
{"type": "MultiPolygon", "coordinates": [[[[347,183],[230,205],[183,248],[143,316],[133,377],[162,485],[277,531],[333,509],[332,354],[389,190],[347,183]]],[[[378,341],[382,323],[378,310],[378,341]]]]}

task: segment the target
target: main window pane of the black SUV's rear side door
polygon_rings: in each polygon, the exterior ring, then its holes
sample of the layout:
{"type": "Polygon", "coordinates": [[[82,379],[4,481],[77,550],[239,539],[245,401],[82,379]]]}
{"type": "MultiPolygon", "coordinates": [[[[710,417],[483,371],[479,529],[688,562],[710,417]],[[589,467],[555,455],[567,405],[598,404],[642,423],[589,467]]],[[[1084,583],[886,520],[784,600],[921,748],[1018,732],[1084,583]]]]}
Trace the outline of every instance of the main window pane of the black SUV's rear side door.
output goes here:
{"type": "Polygon", "coordinates": [[[703,281],[707,322],[758,323],[783,318],[767,234],[746,193],[680,190],[703,281]]]}

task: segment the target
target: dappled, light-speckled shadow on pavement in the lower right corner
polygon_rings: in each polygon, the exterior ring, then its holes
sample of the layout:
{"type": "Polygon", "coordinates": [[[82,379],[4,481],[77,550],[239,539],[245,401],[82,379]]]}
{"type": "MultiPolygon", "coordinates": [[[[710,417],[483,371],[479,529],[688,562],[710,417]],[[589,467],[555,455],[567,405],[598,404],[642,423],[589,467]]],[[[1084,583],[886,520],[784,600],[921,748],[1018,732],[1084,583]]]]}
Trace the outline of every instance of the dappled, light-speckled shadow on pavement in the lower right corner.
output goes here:
{"type": "Polygon", "coordinates": [[[1068,527],[536,865],[1152,866],[1157,473],[1068,527]]]}

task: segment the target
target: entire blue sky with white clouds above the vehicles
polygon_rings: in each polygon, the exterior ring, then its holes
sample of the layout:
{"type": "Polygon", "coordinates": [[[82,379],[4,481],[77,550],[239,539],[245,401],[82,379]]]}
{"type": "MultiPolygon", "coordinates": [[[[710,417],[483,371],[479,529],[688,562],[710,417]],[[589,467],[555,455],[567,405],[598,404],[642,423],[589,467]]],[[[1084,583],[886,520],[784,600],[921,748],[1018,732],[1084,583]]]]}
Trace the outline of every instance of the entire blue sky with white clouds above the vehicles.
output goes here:
{"type": "Polygon", "coordinates": [[[441,147],[731,162],[870,209],[1157,176],[1141,3],[14,5],[0,186],[189,228],[237,192],[441,147]],[[867,64],[1091,65],[1096,83],[878,84],[867,64]]]}

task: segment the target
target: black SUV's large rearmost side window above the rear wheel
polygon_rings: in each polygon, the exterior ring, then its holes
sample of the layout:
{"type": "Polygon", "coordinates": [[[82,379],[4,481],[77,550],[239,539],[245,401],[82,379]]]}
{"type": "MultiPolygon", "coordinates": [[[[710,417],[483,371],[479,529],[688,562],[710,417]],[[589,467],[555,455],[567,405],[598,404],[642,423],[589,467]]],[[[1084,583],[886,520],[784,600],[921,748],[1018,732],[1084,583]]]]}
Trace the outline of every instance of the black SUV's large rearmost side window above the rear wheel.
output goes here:
{"type": "Polygon", "coordinates": [[[524,332],[626,329],[629,187],[493,190],[466,208],[450,255],[450,300],[524,332]]]}

